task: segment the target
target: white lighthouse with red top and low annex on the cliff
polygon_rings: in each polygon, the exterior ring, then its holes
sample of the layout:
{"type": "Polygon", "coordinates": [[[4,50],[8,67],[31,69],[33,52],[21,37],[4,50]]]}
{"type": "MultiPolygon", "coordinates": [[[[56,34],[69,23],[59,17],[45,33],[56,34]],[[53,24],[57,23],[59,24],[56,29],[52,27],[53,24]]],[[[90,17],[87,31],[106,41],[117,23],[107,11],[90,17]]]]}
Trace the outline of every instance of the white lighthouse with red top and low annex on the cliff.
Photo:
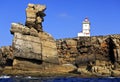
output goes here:
{"type": "Polygon", "coordinates": [[[89,37],[90,36],[90,22],[88,18],[85,18],[82,23],[82,32],[78,33],[78,37],[89,37]]]}

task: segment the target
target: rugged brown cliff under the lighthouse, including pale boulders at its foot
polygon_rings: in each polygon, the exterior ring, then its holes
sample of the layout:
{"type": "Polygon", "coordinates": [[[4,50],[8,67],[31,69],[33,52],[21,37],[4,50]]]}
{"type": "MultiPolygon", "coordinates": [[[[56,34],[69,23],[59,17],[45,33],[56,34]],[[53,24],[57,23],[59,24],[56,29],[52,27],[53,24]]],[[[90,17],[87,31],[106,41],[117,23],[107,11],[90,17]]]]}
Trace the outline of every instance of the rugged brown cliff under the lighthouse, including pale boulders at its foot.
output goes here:
{"type": "MultiPolygon", "coordinates": [[[[60,63],[72,63],[83,73],[113,75],[120,67],[120,35],[57,40],[60,63]]],[[[118,72],[118,75],[120,72],[118,72]]]]}

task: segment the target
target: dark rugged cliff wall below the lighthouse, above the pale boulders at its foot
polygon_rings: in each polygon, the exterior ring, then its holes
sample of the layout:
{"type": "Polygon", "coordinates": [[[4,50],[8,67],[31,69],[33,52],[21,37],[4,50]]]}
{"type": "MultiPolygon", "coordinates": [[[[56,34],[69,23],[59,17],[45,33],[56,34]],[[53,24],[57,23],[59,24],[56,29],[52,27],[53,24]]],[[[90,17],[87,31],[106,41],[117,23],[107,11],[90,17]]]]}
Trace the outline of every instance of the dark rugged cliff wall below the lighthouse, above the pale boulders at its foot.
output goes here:
{"type": "Polygon", "coordinates": [[[120,35],[111,35],[57,40],[60,62],[85,65],[90,61],[103,60],[115,63],[120,59],[119,47],[116,47],[120,41],[115,42],[119,37],[120,35]]]}

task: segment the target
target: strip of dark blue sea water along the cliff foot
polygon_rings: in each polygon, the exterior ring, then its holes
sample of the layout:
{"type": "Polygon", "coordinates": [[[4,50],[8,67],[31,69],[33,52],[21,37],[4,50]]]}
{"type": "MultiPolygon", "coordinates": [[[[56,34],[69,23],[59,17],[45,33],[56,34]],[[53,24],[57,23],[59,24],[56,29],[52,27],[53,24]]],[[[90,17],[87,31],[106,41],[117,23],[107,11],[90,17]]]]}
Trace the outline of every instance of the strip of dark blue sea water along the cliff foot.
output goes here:
{"type": "Polygon", "coordinates": [[[39,77],[39,78],[0,78],[0,82],[120,82],[120,78],[77,78],[77,77],[39,77]]]}

